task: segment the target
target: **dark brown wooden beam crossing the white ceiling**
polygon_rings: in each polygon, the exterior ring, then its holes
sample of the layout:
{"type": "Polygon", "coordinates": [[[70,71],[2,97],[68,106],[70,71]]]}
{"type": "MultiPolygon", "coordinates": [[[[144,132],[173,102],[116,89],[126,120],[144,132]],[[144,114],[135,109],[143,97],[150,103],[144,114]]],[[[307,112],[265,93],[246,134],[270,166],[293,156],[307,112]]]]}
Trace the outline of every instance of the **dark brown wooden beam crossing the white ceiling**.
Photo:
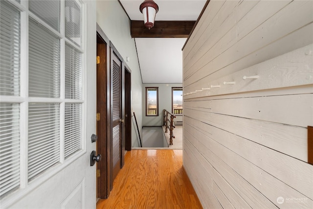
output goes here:
{"type": "Polygon", "coordinates": [[[132,38],[188,38],[196,21],[155,21],[150,30],[143,21],[131,21],[132,38]]]}

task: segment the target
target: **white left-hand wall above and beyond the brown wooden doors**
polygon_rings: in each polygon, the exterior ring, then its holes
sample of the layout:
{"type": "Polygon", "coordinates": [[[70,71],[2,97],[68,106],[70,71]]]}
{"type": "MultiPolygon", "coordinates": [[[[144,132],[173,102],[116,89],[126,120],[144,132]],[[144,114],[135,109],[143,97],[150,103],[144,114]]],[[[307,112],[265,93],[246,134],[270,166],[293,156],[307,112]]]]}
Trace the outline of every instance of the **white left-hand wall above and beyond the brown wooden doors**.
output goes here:
{"type": "MultiPolygon", "coordinates": [[[[135,112],[139,131],[142,126],[142,80],[130,20],[117,0],[97,0],[97,23],[132,70],[132,113],[135,112]]],[[[136,128],[132,124],[132,144],[136,146],[136,128]]]]}

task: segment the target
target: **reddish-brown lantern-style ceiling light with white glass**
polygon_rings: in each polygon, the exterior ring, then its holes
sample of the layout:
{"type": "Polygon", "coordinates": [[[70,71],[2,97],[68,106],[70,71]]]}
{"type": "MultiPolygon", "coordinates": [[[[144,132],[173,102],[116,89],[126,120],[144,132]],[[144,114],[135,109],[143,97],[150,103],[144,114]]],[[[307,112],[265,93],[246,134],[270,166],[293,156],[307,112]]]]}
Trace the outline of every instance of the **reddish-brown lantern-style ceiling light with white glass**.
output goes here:
{"type": "Polygon", "coordinates": [[[140,12],[143,14],[143,20],[147,28],[152,28],[155,23],[158,6],[153,0],[144,0],[139,6],[140,12]]]}

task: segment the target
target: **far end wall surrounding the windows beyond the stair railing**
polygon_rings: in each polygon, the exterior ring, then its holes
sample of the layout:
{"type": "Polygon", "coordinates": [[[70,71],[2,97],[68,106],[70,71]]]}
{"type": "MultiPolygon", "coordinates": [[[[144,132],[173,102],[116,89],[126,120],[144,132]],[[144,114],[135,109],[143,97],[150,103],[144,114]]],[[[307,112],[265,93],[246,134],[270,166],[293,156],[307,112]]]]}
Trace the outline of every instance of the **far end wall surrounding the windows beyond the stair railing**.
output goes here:
{"type": "MultiPolygon", "coordinates": [[[[182,84],[143,84],[142,86],[142,125],[162,126],[163,110],[172,112],[172,87],[182,87],[182,84]],[[168,85],[168,86],[167,86],[168,85]],[[146,87],[158,87],[158,116],[146,116],[146,87]]],[[[176,121],[182,121],[182,116],[176,116],[176,121]]]]}

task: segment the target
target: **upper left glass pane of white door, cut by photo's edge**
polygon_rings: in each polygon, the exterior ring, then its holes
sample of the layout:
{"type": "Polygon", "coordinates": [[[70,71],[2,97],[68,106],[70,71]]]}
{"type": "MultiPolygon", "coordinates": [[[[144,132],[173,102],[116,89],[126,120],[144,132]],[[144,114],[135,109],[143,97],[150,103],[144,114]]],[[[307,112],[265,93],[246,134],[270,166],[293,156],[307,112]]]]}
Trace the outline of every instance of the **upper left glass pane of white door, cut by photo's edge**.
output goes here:
{"type": "Polygon", "coordinates": [[[20,95],[20,12],[0,1],[0,94],[20,95]]]}

